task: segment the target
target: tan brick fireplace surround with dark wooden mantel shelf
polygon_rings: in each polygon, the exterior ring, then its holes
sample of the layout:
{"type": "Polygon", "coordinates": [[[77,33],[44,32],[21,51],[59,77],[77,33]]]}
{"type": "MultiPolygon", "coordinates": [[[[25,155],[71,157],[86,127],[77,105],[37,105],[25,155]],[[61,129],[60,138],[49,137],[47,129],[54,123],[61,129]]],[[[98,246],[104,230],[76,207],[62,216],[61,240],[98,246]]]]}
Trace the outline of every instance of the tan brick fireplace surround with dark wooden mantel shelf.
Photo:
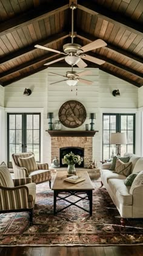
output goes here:
{"type": "Polygon", "coordinates": [[[84,167],[93,160],[93,136],[97,131],[47,131],[51,136],[51,162],[59,159],[59,149],[65,147],[84,148],[84,167]]]}

